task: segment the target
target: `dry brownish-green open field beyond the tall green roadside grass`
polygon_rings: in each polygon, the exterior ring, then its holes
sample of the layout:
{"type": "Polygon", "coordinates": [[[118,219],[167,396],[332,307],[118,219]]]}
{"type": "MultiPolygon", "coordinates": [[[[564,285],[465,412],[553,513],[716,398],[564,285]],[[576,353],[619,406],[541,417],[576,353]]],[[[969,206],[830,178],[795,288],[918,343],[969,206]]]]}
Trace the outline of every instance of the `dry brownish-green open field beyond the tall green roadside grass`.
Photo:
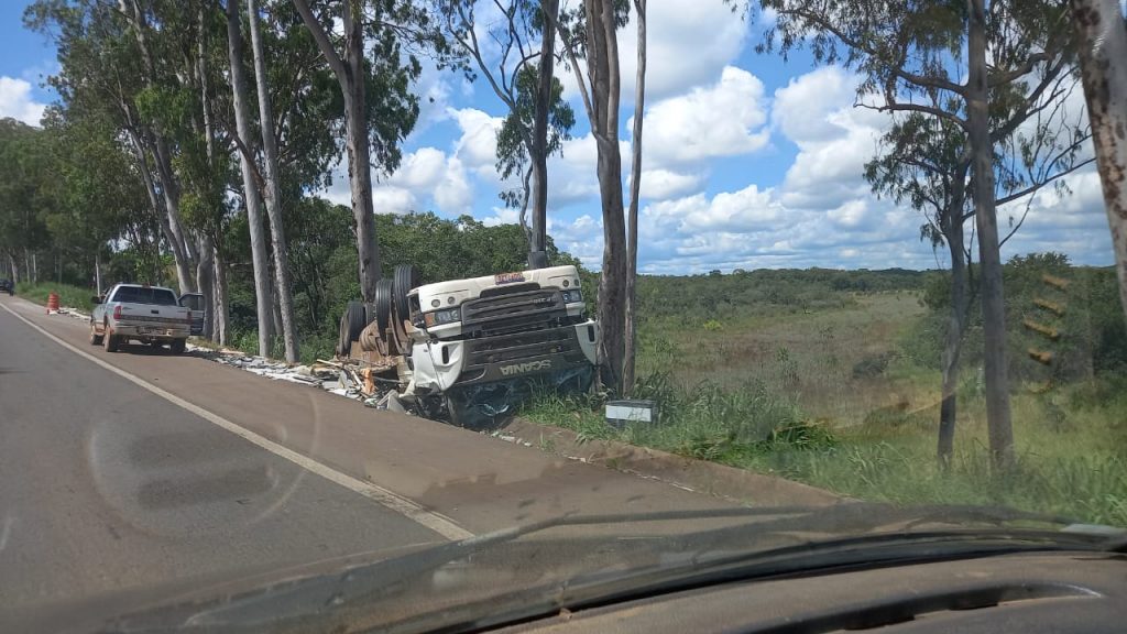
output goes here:
{"type": "Polygon", "coordinates": [[[724,390],[760,385],[835,428],[881,407],[937,403],[938,382],[886,376],[905,326],[923,314],[917,293],[838,294],[837,308],[711,319],[701,328],[651,320],[641,331],[639,372],[668,371],[685,389],[702,381],[724,390]]]}

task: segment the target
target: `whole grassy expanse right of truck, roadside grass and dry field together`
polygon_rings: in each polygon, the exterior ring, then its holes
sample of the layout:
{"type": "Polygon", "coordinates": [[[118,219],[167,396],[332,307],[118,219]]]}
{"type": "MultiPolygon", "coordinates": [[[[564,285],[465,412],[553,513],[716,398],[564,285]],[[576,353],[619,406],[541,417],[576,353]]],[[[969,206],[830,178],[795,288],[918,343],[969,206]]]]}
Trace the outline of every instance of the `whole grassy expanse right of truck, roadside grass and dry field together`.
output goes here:
{"type": "MultiPolygon", "coordinates": [[[[641,325],[639,397],[653,425],[619,430],[588,397],[541,395],[522,415],[574,430],[904,504],[1006,505],[1127,526],[1127,378],[1048,395],[1013,386],[1018,466],[990,465],[975,369],[959,389],[956,455],[935,458],[939,372],[903,353],[923,318],[913,293],[850,296],[836,307],[727,322],[641,325]],[[848,300],[848,301],[846,301],[848,300]]],[[[716,322],[716,320],[712,320],[716,322]]]]}

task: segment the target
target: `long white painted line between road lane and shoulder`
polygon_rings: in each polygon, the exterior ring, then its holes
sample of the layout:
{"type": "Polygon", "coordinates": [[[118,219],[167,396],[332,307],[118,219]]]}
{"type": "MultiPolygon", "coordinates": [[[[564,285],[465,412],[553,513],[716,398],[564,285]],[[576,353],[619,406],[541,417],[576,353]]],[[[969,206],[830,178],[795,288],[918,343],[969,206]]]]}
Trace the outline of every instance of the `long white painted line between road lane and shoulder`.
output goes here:
{"type": "Polygon", "coordinates": [[[74,345],[66,343],[65,341],[43,329],[35,323],[28,320],[23,315],[18,315],[11,308],[8,308],[7,306],[3,305],[0,305],[0,307],[2,307],[8,312],[11,312],[11,315],[17,319],[19,319],[20,322],[24,322],[28,326],[38,331],[43,336],[50,338],[51,341],[73,352],[74,354],[88,359],[94,363],[97,363],[98,366],[109,370],[110,372],[143,387],[144,389],[156,394],[157,396],[163,398],[165,400],[168,400],[169,403],[172,403],[174,405],[179,405],[184,410],[192,412],[193,414],[199,416],[201,419],[214,423],[240,438],[249,440],[250,442],[257,444],[258,447],[261,447],[263,449],[269,451],[270,454],[274,454],[275,456],[285,458],[286,460],[290,460],[291,463],[298,465],[299,467],[305,470],[312,472],[330,482],[335,482],[340,486],[344,486],[355,493],[360,493],[361,495],[367,497],[369,500],[372,500],[378,504],[391,509],[392,511],[396,511],[401,516],[406,516],[407,518],[410,518],[411,520],[425,526],[426,528],[429,528],[431,530],[437,532],[438,535],[442,535],[446,539],[459,540],[459,539],[465,539],[467,537],[473,537],[472,532],[458,526],[450,518],[443,517],[442,514],[436,513],[434,511],[428,511],[425,508],[420,507],[417,502],[408,497],[403,497],[402,495],[393,491],[389,491],[387,488],[383,488],[382,486],[372,484],[370,482],[364,482],[350,475],[343,474],[331,467],[327,467],[321,463],[313,460],[312,458],[309,458],[308,456],[303,456],[292,449],[287,449],[266,437],[259,435],[246,428],[239,426],[238,424],[232,423],[231,421],[220,416],[219,414],[213,414],[212,412],[208,412],[207,410],[204,410],[198,405],[189,403],[180,398],[179,396],[176,396],[175,394],[166,391],[135,375],[126,372],[125,370],[122,370],[121,368],[107,361],[98,359],[97,356],[90,354],[89,352],[86,352],[85,350],[80,350],[74,345]]]}

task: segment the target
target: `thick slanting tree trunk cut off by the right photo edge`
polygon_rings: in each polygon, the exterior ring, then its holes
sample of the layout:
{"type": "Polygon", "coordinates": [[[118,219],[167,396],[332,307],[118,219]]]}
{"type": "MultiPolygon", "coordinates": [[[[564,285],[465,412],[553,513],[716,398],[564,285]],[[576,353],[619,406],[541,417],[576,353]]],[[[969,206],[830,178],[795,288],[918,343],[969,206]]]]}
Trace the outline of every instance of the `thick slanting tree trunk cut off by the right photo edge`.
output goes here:
{"type": "Polygon", "coordinates": [[[1127,315],[1127,25],[1117,0],[1072,0],[1119,299],[1127,315]]]}

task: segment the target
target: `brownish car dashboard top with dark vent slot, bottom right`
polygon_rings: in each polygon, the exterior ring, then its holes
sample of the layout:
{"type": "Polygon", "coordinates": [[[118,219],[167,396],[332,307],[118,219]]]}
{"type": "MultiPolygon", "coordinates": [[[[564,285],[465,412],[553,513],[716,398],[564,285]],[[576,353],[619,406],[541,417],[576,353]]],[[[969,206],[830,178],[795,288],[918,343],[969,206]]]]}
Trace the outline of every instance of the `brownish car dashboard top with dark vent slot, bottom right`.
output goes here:
{"type": "Polygon", "coordinates": [[[561,611],[516,633],[1127,631],[1127,555],[1022,553],[710,585],[561,611]]]}

